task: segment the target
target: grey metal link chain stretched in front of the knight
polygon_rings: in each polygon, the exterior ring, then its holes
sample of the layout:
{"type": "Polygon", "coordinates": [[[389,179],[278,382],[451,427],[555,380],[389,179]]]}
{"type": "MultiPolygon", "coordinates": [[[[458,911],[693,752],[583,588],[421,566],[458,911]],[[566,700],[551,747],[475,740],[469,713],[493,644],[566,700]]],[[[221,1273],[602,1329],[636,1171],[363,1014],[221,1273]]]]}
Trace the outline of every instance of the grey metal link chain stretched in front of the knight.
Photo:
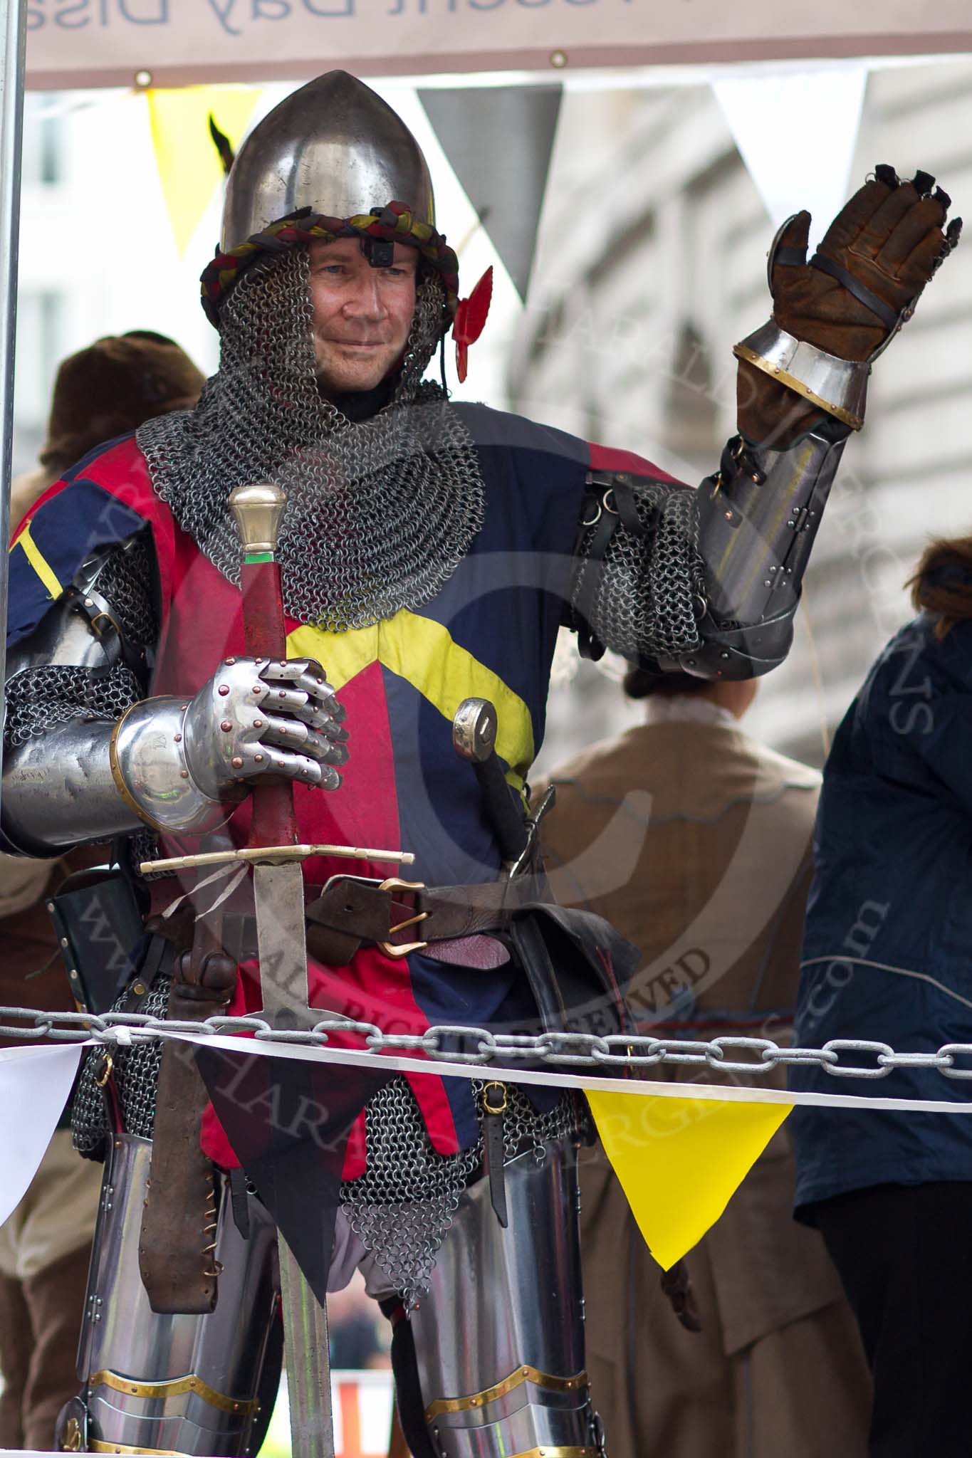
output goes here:
{"type": "MultiPolygon", "coordinates": [[[[885,1079],[893,1069],[934,1069],[946,1079],[972,1079],[972,1042],[946,1042],[937,1053],[895,1053],[887,1042],[870,1038],[831,1038],[822,1048],[781,1048],[771,1038],[651,1038],[635,1034],[596,1037],[587,1032],[528,1034],[490,1032],[442,1024],[423,1034],[385,1034],[373,1022],[325,1018],[306,1031],[271,1028],[262,1018],[207,1018],[205,1022],[178,1022],[149,1013],[39,1012],[34,1007],[0,1007],[0,1040],[19,1042],[102,1042],[130,1047],[147,1038],[179,1034],[233,1035],[252,1032],[261,1042],[299,1042],[326,1048],[329,1035],[357,1034],[367,1053],[424,1053],[449,1063],[510,1064],[551,1063],[560,1067],[653,1069],[662,1063],[718,1069],[723,1073],[764,1075],[788,1064],[816,1064],[835,1079],[885,1079]],[[9,1025],[9,1019],[22,1026],[9,1025]],[[475,1051],[444,1047],[446,1041],[474,1042],[475,1051]],[[851,1054],[866,1054],[869,1061],[854,1061],[851,1054]],[[956,1060],[969,1066],[956,1067],[956,1060]]],[[[342,1048],[354,1054],[354,1050],[342,1048]]]]}

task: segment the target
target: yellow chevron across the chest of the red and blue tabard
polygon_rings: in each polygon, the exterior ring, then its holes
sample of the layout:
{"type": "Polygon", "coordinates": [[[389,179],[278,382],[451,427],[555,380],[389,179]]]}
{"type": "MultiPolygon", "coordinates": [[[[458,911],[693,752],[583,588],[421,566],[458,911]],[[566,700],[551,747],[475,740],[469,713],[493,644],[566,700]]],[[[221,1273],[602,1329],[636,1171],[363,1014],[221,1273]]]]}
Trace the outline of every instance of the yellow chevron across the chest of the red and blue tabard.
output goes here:
{"type": "Polygon", "coordinates": [[[442,623],[399,608],[393,618],[348,633],[309,624],[287,637],[291,658],[316,658],[335,688],[344,688],[369,663],[404,678],[452,723],[463,698],[488,698],[500,720],[497,754],[510,765],[507,780],[520,789],[533,763],[530,712],[491,668],[460,647],[442,623]]]}

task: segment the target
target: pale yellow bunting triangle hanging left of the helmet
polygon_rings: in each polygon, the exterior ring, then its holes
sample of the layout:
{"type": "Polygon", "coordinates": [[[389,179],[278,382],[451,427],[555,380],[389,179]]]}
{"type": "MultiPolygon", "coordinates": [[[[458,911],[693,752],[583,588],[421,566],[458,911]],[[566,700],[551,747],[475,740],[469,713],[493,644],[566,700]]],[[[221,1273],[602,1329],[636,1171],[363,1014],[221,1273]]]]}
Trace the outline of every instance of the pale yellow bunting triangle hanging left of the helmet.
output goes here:
{"type": "MultiPolygon", "coordinates": [[[[152,146],[179,257],[210,206],[223,165],[210,137],[210,114],[238,144],[259,98],[255,86],[182,86],[150,90],[152,146]]],[[[236,239],[243,242],[243,239],[236,239]]]]}

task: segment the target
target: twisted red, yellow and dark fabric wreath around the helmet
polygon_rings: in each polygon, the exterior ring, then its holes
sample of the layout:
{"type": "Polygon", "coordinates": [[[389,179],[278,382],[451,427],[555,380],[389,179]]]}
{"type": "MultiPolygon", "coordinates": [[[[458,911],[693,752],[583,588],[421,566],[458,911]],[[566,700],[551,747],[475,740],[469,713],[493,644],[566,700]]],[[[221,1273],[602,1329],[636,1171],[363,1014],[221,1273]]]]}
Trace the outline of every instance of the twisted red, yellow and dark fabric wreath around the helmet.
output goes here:
{"type": "Polygon", "coordinates": [[[334,243],[338,238],[382,238],[391,243],[408,243],[417,248],[426,262],[442,277],[446,290],[446,315],[443,332],[452,321],[459,302],[459,260],[444,239],[428,223],[415,217],[404,203],[389,203],[354,217],[328,217],[302,207],[287,217],[271,223],[262,233],[254,233],[246,242],[227,252],[217,252],[211,264],[203,270],[201,297],[205,316],[219,328],[219,315],[226,295],[243,270],[261,254],[278,254],[287,248],[307,245],[313,239],[334,243]]]}

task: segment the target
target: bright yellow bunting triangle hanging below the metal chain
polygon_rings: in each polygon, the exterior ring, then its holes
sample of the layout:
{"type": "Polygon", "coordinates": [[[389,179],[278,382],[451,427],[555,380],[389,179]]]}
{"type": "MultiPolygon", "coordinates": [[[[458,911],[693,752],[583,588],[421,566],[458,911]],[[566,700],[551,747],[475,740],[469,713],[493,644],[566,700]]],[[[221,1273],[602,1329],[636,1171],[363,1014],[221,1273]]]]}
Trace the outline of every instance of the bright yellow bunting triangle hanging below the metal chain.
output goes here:
{"type": "Polygon", "coordinates": [[[587,1102],[646,1245],[665,1270],[716,1223],[793,1108],[593,1089],[587,1102]]]}

